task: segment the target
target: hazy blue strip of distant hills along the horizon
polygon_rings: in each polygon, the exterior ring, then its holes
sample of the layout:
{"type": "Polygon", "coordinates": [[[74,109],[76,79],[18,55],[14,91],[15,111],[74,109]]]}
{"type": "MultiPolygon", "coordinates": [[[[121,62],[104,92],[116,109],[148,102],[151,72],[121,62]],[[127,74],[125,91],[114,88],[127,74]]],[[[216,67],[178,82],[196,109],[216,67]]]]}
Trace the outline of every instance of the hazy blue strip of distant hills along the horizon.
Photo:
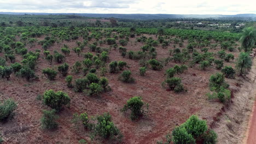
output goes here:
{"type": "Polygon", "coordinates": [[[0,12],[0,14],[10,15],[79,15],[85,17],[115,17],[118,19],[138,19],[138,20],[150,20],[150,19],[178,19],[178,18],[217,18],[217,17],[252,17],[256,18],[256,14],[237,14],[237,15],[177,15],[177,14],[72,14],[72,13],[11,13],[0,12]]]}

